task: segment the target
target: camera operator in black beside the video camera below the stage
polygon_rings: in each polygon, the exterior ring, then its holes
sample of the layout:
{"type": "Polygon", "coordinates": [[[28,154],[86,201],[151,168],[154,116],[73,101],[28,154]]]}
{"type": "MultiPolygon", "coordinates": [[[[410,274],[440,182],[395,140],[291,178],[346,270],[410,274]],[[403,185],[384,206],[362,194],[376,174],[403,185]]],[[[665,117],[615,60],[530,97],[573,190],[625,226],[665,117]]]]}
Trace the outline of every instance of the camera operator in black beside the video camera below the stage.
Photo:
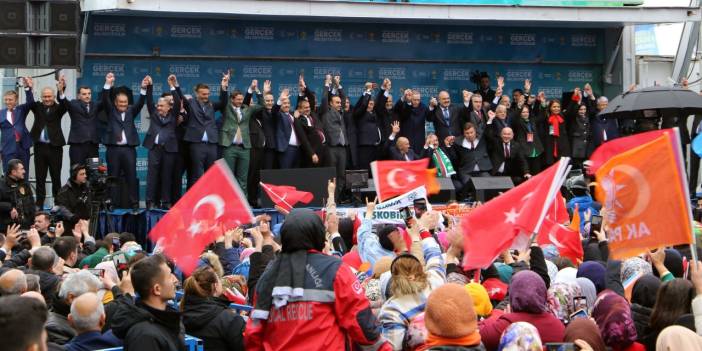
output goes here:
{"type": "Polygon", "coordinates": [[[76,219],[90,219],[91,200],[87,167],[83,164],[73,165],[68,182],[56,197],[56,206],[65,207],[76,219]]]}

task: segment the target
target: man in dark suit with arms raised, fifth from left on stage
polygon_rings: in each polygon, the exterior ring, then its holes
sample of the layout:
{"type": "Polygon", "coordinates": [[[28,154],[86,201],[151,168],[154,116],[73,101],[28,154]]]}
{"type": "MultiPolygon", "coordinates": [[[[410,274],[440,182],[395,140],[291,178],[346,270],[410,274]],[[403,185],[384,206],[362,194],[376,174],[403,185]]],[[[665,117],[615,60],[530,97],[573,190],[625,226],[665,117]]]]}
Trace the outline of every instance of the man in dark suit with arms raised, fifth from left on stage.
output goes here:
{"type": "MultiPolygon", "coordinates": [[[[168,76],[171,92],[178,86],[176,76],[168,76]]],[[[146,107],[149,110],[149,131],[144,137],[144,147],[149,150],[149,164],[146,174],[146,209],[154,205],[169,209],[173,203],[172,183],[180,179],[174,177],[175,162],[178,157],[178,140],[176,123],[180,107],[180,95],[172,94],[172,100],[161,97],[154,106],[149,84],[146,95],[146,107]]]]}

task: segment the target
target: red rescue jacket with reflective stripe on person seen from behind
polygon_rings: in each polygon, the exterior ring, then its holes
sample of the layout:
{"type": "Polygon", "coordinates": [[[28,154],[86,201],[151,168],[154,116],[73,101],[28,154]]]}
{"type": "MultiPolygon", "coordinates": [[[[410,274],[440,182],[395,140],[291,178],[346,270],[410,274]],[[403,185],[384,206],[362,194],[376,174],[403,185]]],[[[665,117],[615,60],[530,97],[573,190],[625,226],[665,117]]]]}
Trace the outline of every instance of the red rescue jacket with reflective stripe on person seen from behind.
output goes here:
{"type": "Polygon", "coordinates": [[[308,254],[307,266],[301,299],[271,307],[267,320],[249,319],[246,350],[336,351],[346,350],[349,340],[363,350],[392,350],[346,264],[314,252],[308,254]]]}

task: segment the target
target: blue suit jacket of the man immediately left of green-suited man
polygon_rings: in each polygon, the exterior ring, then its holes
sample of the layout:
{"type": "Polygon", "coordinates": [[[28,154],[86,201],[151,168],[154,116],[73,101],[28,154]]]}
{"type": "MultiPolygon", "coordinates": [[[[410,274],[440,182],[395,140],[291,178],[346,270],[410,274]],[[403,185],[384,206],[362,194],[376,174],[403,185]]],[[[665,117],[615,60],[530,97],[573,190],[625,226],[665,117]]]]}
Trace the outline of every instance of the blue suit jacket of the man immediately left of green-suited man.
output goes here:
{"type": "MultiPolygon", "coordinates": [[[[176,87],[176,92],[183,97],[180,87],[176,87]]],[[[201,143],[203,135],[207,132],[207,142],[210,144],[217,143],[219,134],[217,133],[217,124],[215,122],[215,112],[222,111],[227,106],[228,94],[223,90],[219,94],[219,101],[208,101],[206,104],[201,104],[197,99],[193,98],[186,101],[185,108],[188,111],[188,120],[186,124],[184,140],[191,143],[201,143]]]]}

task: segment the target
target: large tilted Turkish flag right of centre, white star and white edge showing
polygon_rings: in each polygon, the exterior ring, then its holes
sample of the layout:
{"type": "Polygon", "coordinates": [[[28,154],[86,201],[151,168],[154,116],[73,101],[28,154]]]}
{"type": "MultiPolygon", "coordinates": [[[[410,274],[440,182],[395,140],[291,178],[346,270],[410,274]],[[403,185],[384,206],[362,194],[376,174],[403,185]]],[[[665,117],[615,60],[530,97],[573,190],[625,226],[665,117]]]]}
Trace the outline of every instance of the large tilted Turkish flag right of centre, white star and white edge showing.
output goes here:
{"type": "Polygon", "coordinates": [[[520,234],[538,232],[561,185],[567,165],[568,159],[561,159],[547,170],[465,215],[461,221],[463,269],[485,268],[520,234]]]}

